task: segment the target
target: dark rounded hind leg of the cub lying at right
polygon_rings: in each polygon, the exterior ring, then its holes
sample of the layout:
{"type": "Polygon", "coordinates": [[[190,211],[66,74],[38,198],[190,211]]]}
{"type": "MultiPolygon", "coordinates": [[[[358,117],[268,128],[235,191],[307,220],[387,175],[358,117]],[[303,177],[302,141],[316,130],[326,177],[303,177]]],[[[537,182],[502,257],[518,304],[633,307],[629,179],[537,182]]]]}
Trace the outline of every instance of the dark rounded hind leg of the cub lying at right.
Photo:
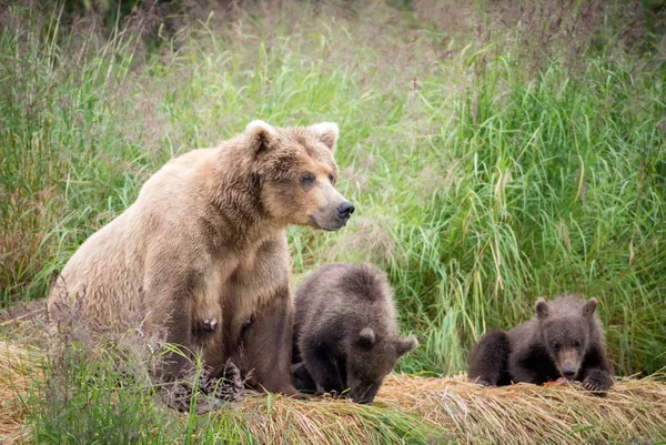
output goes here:
{"type": "Polygon", "coordinates": [[[507,384],[508,336],[504,331],[485,334],[470,354],[467,375],[484,386],[507,384]]]}

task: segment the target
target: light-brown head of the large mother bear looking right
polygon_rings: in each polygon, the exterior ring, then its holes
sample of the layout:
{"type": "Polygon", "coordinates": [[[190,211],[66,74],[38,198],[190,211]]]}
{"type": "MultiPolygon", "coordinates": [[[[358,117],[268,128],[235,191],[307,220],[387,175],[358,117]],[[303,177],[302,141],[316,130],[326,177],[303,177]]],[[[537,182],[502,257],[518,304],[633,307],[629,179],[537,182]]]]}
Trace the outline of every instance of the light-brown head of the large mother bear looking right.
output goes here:
{"type": "Polygon", "coordinates": [[[346,224],[354,205],[335,190],[337,124],[280,129],[253,121],[244,135],[260,201],[272,220],[330,231],[346,224]]]}

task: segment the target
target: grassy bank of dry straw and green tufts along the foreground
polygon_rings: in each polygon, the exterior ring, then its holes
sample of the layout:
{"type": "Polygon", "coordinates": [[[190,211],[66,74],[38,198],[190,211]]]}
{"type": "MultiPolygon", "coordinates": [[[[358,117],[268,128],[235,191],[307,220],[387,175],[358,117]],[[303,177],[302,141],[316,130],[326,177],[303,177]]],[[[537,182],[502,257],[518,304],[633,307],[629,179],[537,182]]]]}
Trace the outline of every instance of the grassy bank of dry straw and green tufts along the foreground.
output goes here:
{"type": "Polygon", "coordinates": [[[663,375],[620,380],[606,397],[599,397],[575,385],[482,388],[463,376],[403,374],[386,380],[372,406],[250,392],[231,409],[198,415],[194,407],[183,414],[165,408],[153,388],[119,373],[104,360],[109,356],[91,363],[70,348],[64,358],[46,360],[9,342],[0,342],[0,377],[16,383],[13,392],[2,393],[12,403],[0,404],[0,439],[8,444],[652,444],[666,439],[663,375]]]}

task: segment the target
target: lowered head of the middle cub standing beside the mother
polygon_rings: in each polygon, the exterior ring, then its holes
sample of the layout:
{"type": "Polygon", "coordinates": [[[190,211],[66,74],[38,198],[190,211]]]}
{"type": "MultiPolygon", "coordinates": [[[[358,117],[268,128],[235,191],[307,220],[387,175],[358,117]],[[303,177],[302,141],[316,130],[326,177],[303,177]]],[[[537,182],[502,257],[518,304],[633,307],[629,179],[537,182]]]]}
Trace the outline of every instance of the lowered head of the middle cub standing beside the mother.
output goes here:
{"type": "Polygon", "coordinates": [[[372,327],[361,330],[352,340],[345,363],[346,385],[352,401],[372,403],[397,360],[416,346],[418,341],[414,335],[381,337],[372,327]]]}

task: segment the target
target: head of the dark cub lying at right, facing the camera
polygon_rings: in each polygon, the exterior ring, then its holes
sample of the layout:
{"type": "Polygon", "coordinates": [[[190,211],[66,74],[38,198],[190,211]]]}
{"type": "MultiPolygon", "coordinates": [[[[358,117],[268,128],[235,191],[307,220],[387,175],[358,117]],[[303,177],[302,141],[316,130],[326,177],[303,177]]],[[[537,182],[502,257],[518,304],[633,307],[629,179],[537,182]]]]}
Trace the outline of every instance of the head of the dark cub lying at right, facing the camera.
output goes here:
{"type": "Polygon", "coordinates": [[[559,374],[575,380],[583,363],[594,326],[596,299],[583,304],[577,299],[561,300],[553,306],[543,299],[536,302],[535,312],[545,347],[557,366],[559,374]],[[567,302],[571,302],[568,304],[567,302]]]}

